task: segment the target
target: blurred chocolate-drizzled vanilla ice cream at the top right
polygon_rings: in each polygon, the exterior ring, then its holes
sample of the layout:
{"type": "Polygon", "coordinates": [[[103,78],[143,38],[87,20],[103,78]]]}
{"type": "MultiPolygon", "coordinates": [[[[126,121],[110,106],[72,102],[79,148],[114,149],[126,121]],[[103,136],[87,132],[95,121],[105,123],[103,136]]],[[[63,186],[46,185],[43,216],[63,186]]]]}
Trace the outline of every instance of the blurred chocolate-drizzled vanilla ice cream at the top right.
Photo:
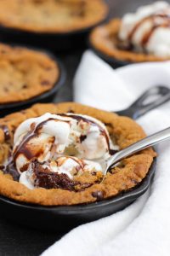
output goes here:
{"type": "Polygon", "coordinates": [[[119,38],[136,50],[160,57],[170,56],[170,4],[156,2],[124,15],[119,38]],[[147,38],[147,39],[146,39],[147,38]]]}

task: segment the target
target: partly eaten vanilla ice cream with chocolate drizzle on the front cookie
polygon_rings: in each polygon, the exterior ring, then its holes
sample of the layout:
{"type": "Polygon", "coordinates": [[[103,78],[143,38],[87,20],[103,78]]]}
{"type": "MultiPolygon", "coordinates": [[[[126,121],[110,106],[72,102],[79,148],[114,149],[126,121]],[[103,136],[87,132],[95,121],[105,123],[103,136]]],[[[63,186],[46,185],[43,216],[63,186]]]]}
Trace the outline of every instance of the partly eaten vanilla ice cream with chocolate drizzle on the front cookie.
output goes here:
{"type": "MultiPolygon", "coordinates": [[[[84,170],[101,171],[98,163],[94,165],[93,161],[87,160],[105,159],[110,156],[110,148],[117,147],[111,143],[105,125],[97,119],[73,113],[45,113],[27,119],[15,131],[13,157],[20,173],[26,172],[31,160],[36,159],[40,163],[50,161],[48,168],[51,172],[62,172],[71,177],[70,171],[78,168],[81,161],[65,157],[61,166],[52,166],[55,163],[52,160],[58,162],[67,152],[72,154],[72,148],[76,148],[75,157],[84,159],[84,170]]],[[[20,180],[27,176],[26,173],[21,175],[20,180]]]]}

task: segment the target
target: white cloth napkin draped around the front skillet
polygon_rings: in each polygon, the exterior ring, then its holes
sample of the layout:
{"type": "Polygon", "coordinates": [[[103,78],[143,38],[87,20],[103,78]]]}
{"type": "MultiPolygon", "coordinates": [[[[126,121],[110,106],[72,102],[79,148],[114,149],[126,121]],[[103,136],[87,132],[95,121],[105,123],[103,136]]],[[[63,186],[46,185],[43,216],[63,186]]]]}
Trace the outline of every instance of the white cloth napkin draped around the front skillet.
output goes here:
{"type": "MultiPolygon", "coordinates": [[[[120,110],[156,84],[170,87],[170,62],[133,64],[113,70],[87,51],[74,79],[74,96],[76,102],[120,110]]],[[[138,119],[147,134],[170,125],[169,107],[168,102],[138,119]]],[[[121,212],[71,230],[42,255],[169,256],[170,142],[159,144],[156,150],[156,176],[150,191],[121,212]]]]}

